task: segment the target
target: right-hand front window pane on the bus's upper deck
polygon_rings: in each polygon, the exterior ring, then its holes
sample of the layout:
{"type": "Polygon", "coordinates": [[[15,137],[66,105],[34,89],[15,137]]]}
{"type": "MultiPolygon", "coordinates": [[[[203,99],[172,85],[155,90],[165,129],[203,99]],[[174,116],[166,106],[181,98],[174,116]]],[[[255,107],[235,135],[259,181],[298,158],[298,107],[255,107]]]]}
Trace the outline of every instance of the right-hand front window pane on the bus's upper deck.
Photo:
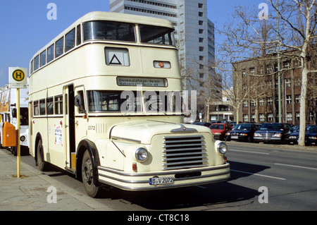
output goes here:
{"type": "Polygon", "coordinates": [[[149,25],[139,25],[141,42],[148,44],[166,44],[175,46],[173,29],[155,27],[149,25]]]}

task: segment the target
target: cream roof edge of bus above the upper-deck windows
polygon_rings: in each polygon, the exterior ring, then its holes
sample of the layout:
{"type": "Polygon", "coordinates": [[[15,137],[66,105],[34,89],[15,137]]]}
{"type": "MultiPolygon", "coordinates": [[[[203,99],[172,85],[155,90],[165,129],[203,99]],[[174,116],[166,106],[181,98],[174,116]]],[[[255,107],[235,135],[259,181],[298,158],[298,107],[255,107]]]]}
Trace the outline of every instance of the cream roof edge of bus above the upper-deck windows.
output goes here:
{"type": "Polygon", "coordinates": [[[136,24],[154,25],[154,26],[161,26],[161,27],[174,29],[172,23],[170,23],[169,20],[165,20],[161,18],[154,18],[149,16],[138,16],[138,15],[132,15],[128,13],[93,11],[77,19],[75,23],[73,23],[68,28],[66,28],[66,30],[63,30],[63,32],[61,32],[54,39],[52,39],[51,42],[49,42],[44,47],[42,47],[42,49],[39,49],[39,51],[37,51],[37,53],[32,56],[32,59],[38,54],[40,54],[42,51],[44,51],[44,49],[51,46],[51,44],[54,44],[54,42],[56,42],[58,39],[63,37],[63,35],[66,35],[66,33],[68,33],[70,30],[73,30],[75,26],[79,25],[80,23],[93,21],[93,20],[108,20],[108,21],[123,22],[123,23],[136,23],[136,24]]]}

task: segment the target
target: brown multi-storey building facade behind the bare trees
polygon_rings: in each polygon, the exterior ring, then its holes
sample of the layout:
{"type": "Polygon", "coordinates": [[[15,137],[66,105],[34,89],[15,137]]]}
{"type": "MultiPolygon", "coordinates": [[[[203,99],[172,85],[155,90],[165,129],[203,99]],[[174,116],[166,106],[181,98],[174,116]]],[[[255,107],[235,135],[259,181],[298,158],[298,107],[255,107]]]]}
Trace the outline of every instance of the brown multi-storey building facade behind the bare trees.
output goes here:
{"type": "MultiPolygon", "coordinates": [[[[280,102],[282,123],[299,125],[302,69],[297,58],[280,59],[280,102]]],[[[315,67],[311,63],[311,68],[315,67]]],[[[234,88],[242,90],[239,120],[242,122],[279,122],[278,61],[276,54],[266,58],[232,63],[234,88]]],[[[309,74],[306,97],[306,123],[316,124],[317,75],[309,74]]]]}

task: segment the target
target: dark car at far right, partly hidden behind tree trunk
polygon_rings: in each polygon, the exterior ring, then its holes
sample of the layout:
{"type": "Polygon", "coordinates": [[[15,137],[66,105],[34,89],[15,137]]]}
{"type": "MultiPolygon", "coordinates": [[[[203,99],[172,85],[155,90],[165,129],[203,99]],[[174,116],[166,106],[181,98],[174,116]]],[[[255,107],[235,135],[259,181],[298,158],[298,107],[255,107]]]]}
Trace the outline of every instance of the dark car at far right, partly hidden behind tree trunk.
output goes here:
{"type": "MultiPolygon", "coordinates": [[[[305,128],[305,145],[317,145],[317,126],[306,125],[305,128]]],[[[298,143],[299,137],[299,126],[295,128],[294,132],[291,133],[289,142],[291,145],[298,143]]]]}

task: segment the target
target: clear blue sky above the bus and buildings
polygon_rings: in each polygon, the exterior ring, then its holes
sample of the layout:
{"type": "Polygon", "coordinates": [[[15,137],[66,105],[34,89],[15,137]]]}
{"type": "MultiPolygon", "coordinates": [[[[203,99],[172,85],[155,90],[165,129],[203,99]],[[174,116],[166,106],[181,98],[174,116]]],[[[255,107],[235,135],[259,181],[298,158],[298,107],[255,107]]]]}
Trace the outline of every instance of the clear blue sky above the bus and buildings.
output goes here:
{"type": "MultiPolygon", "coordinates": [[[[191,0],[186,0],[191,1],[191,0]]],[[[254,5],[258,13],[266,0],[207,0],[208,18],[222,27],[237,5],[254,5]]],[[[8,67],[29,69],[32,56],[81,16],[109,11],[108,0],[0,0],[0,87],[8,83],[8,67]],[[49,16],[56,6],[56,20],[49,16]]],[[[216,34],[216,40],[220,38],[216,34]]]]}

